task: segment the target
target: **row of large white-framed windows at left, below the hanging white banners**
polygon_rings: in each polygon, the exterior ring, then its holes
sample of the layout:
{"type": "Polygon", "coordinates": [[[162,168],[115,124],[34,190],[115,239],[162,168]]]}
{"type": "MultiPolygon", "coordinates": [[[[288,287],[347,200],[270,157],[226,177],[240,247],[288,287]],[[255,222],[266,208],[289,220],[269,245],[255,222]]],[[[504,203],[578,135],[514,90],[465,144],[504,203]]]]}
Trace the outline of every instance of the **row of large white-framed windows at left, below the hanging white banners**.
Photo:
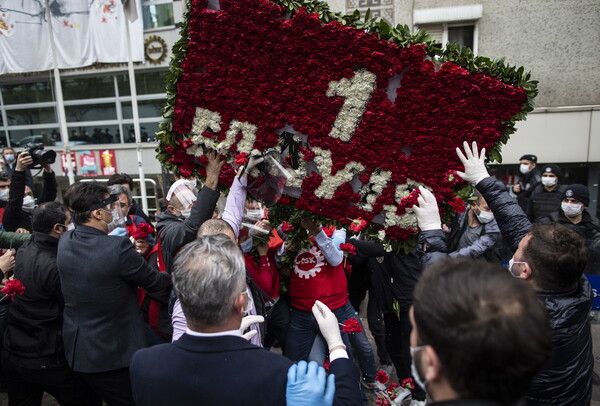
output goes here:
{"type": "MultiPolygon", "coordinates": [[[[165,106],[166,71],[138,71],[142,142],[155,142],[165,106]]],[[[134,142],[133,113],[126,73],[61,78],[67,132],[72,145],[134,142]]],[[[52,82],[0,87],[0,147],[42,142],[62,145],[52,82]]]]}

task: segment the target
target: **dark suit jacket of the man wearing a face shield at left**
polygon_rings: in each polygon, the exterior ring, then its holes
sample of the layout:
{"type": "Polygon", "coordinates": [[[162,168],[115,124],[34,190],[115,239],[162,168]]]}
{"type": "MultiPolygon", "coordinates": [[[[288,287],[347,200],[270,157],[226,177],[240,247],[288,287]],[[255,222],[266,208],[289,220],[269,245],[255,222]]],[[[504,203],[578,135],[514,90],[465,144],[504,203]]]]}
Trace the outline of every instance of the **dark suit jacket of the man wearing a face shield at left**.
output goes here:
{"type": "Polygon", "coordinates": [[[57,266],[69,365],[86,373],[128,367],[133,353],[147,345],[136,290],[166,289],[170,275],[149,266],[128,238],[87,226],[60,238],[57,266]]]}

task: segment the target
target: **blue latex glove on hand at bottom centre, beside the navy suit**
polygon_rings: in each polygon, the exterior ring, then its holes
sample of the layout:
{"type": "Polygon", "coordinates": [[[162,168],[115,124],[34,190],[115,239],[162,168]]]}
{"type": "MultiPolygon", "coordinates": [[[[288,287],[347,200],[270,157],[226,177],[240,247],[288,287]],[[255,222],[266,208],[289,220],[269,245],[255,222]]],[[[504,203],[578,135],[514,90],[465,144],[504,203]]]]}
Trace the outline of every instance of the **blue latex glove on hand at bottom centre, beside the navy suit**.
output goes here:
{"type": "Polygon", "coordinates": [[[316,362],[300,361],[288,369],[285,392],[288,406],[331,406],[335,395],[335,375],[316,362]]]}

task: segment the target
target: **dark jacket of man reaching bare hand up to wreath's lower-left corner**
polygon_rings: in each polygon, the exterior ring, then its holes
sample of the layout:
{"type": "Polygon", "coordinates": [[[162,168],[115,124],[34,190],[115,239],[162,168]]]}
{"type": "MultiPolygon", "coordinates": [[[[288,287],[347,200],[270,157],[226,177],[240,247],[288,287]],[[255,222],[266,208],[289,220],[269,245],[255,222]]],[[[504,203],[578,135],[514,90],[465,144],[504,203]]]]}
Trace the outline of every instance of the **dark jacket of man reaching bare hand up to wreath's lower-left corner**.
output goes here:
{"type": "Polygon", "coordinates": [[[177,252],[187,243],[194,241],[202,223],[212,218],[219,196],[218,191],[204,186],[198,192],[198,200],[187,219],[176,217],[168,211],[156,217],[156,229],[168,273],[171,273],[177,252]]]}

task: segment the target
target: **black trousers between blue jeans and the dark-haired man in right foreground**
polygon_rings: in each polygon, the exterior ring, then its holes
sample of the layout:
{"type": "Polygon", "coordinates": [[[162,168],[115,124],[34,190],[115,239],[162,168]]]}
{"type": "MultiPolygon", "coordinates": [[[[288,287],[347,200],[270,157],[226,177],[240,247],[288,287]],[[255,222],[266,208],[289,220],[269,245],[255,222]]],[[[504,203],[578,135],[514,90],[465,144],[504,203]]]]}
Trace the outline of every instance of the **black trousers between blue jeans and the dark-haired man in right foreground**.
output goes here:
{"type": "MultiPolygon", "coordinates": [[[[388,354],[396,368],[398,382],[411,378],[410,372],[410,332],[412,327],[408,317],[408,310],[400,311],[398,317],[395,313],[385,313],[385,344],[388,354]]],[[[417,385],[415,385],[417,386],[417,385]]],[[[418,400],[425,399],[425,392],[418,386],[413,390],[413,395],[418,400]]]]}

